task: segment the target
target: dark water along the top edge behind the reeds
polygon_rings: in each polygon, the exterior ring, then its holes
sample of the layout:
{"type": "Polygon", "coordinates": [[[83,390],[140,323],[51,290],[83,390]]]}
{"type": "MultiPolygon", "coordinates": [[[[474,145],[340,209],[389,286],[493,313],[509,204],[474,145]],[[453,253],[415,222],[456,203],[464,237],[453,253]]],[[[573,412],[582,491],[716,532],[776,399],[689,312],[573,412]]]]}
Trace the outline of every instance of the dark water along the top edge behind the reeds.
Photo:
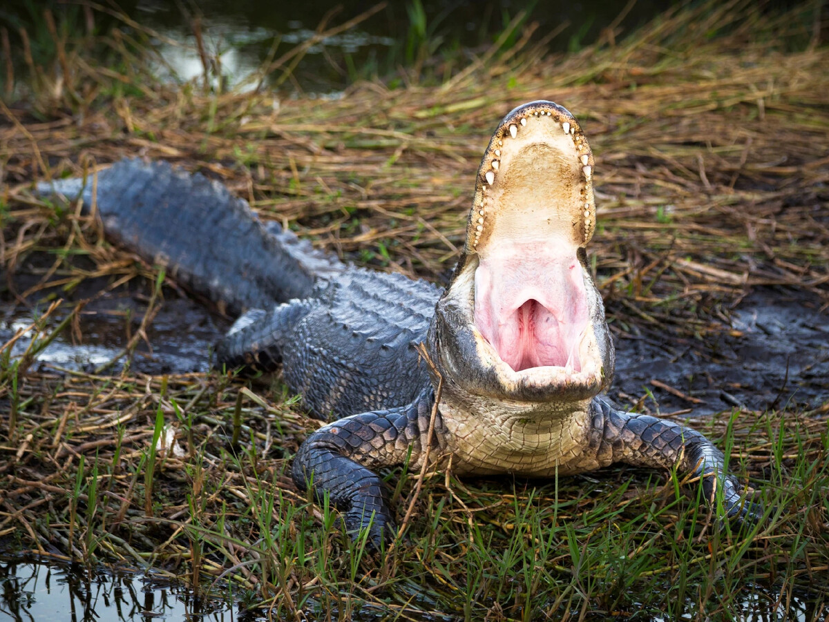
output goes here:
{"type": "MultiPolygon", "coordinates": [[[[796,3],[773,0],[764,2],[763,7],[775,10],[796,3]]],[[[417,67],[421,78],[439,82],[463,69],[502,35],[506,36],[501,49],[508,51],[533,27],[530,41],[545,41],[550,51],[577,51],[599,38],[607,41],[611,25],[612,38],[618,41],[681,2],[393,0],[365,19],[359,18],[378,2],[121,0],[102,4],[105,10],[58,0],[0,2],[0,27],[6,28],[11,43],[17,94],[25,94],[26,87],[19,82],[25,82],[28,73],[27,61],[20,53],[21,29],[27,31],[40,71],[52,75],[57,66],[45,9],[65,33],[69,49],[73,38],[80,41],[90,31],[112,34],[117,30],[116,39],[120,41],[123,33],[130,46],[147,52],[153,73],[162,79],[201,82],[206,74],[215,88],[251,89],[261,84],[282,96],[337,97],[356,80],[380,78],[392,86],[401,84],[404,67],[417,67]],[[286,71],[292,60],[275,62],[311,41],[318,31],[330,31],[351,21],[358,22],[314,41],[290,70],[286,71]]],[[[111,55],[111,48],[97,49],[102,59],[113,58],[114,68],[119,69],[122,61],[111,55]]],[[[4,77],[5,72],[0,72],[0,84],[4,77]]]]}

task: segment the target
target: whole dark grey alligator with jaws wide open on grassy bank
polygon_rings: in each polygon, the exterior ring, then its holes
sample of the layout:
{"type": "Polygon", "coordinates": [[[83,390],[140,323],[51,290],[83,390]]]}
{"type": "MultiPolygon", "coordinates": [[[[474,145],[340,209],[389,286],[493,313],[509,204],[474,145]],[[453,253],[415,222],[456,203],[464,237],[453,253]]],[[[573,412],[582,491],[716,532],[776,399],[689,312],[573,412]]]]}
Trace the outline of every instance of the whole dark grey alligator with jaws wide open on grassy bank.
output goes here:
{"type": "Polygon", "coordinates": [[[95,183],[40,190],[80,196],[117,243],[241,314],[218,364],[281,368],[305,407],[332,421],[300,447],[293,480],[376,546],[395,533],[377,470],[407,461],[527,478],[617,462],[676,469],[701,482],[718,518],[756,520],[762,509],[705,436],[604,394],[614,351],[585,250],[593,184],[593,153],[568,110],[513,109],[484,152],[445,289],[347,266],[165,162],[122,161],[95,183]]]}

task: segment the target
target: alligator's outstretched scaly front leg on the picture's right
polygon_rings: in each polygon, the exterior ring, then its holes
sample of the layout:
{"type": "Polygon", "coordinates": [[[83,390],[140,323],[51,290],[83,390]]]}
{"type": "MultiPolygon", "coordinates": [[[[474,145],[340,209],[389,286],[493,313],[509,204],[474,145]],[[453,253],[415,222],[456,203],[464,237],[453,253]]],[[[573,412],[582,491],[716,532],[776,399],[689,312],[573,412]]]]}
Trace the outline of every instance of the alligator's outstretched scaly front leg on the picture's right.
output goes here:
{"type": "Polygon", "coordinates": [[[613,462],[651,468],[676,467],[681,475],[701,478],[705,500],[715,504],[715,487],[722,489],[725,514],[756,521],[759,504],[740,495],[742,486],[725,470],[725,456],[696,430],[666,419],[620,412],[602,399],[594,400],[591,453],[599,466],[613,462]]]}

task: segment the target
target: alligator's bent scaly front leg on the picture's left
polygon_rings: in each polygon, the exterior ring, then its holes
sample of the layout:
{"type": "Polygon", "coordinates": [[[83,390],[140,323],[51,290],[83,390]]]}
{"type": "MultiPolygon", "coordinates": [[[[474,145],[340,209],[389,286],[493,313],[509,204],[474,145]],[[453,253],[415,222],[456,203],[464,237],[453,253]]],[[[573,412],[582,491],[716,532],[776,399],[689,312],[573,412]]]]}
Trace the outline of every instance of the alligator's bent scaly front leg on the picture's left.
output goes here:
{"type": "Polygon", "coordinates": [[[321,427],[293,459],[294,483],[312,488],[318,501],[328,494],[345,511],[348,532],[369,528],[371,542],[380,547],[383,539],[394,538],[395,524],[374,470],[401,465],[407,457],[411,466],[420,464],[433,404],[429,389],[408,406],[363,412],[321,427]]]}

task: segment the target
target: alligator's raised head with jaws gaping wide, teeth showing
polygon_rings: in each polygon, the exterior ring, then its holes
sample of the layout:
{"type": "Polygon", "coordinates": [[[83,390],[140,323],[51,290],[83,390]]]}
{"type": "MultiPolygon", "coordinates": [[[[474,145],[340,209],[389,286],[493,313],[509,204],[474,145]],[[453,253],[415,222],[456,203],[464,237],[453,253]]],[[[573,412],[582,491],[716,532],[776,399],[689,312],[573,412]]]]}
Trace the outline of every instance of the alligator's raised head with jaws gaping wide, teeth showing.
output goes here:
{"type": "Polygon", "coordinates": [[[613,345],[585,252],[593,164],[579,123],[557,104],[524,104],[498,125],[431,331],[449,395],[560,409],[609,383],[613,345]]]}

